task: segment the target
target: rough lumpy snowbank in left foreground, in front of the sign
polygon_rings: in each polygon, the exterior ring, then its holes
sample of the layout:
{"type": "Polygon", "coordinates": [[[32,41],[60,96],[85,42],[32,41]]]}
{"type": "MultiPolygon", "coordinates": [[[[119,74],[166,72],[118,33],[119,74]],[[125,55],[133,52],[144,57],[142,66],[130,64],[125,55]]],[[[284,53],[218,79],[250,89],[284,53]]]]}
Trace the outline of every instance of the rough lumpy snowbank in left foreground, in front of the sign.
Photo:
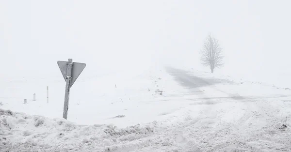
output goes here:
{"type": "Polygon", "coordinates": [[[117,152],[128,143],[155,133],[157,122],[117,128],[113,125],[78,125],[0,109],[0,151],[9,152],[117,152]],[[118,144],[116,147],[114,145],[118,144]]]}

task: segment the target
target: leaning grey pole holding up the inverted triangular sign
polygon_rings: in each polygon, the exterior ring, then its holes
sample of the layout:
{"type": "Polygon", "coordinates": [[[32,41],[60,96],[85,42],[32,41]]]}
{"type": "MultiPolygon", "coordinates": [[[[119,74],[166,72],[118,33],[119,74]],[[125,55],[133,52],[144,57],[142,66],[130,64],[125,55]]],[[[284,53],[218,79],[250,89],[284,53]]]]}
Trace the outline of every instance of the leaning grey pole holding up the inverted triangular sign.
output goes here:
{"type": "Polygon", "coordinates": [[[69,96],[70,96],[70,88],[71,88],[71,74],[72,74],[72,59],[68,59],[67,62],[67,72],[66,72],[66,83],[65,83],[65,102],[64,102],[64,111],[63,118],[67,119],[68,116],[68,108],[69,108],[69,96]]]}

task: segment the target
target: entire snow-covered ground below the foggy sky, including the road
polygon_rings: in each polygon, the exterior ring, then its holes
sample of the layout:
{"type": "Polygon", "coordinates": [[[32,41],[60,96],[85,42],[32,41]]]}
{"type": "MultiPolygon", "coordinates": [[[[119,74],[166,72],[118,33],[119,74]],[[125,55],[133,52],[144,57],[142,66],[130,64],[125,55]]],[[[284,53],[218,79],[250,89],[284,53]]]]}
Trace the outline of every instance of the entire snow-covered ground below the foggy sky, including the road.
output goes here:
{"type": "Polygon", "coordinates": [[[61,75],[2,81],[1,152],[291,151],[291,90],[273,85],[170,67],[80,76],[66,121],[61,75]]]}

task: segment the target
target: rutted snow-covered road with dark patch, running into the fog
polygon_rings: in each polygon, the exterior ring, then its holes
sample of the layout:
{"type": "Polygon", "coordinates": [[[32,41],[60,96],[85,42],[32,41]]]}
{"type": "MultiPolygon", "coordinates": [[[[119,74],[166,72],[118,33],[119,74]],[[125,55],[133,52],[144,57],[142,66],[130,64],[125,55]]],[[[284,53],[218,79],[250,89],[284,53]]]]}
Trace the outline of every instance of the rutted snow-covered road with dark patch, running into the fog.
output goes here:
{"type": "Polygon", "coordinates": [[[182,117],[151,137],[161,139],[162,144],[139,151],[291,151],[291,102],[268,99],[271,96],[240,96],[216,86],[222,82],[239,85],[234,82],[191,76],[173,68],[168,71],[202,101],[190,102],[182,117]],[[204,93],[206,90],[211,93],[204,93]]]}

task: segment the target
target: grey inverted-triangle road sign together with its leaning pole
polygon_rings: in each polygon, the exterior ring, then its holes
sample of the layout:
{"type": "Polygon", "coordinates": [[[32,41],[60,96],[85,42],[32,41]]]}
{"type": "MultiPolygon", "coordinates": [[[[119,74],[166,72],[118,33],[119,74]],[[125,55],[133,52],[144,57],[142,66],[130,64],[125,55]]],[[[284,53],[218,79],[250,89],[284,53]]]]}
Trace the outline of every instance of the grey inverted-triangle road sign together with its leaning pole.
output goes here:
{"type": "Polygon", "coordinates": [[[80,76],[81,72],[86,67],[86,64],[72,62],[72,59],[68,59],[68,61],[58,61],[58,65],[65,78],[65,102],[64,102],[63,118],[67,119],[68,108],[69,108],[70,88],[73,86],[78,76],[80,76]]]}

